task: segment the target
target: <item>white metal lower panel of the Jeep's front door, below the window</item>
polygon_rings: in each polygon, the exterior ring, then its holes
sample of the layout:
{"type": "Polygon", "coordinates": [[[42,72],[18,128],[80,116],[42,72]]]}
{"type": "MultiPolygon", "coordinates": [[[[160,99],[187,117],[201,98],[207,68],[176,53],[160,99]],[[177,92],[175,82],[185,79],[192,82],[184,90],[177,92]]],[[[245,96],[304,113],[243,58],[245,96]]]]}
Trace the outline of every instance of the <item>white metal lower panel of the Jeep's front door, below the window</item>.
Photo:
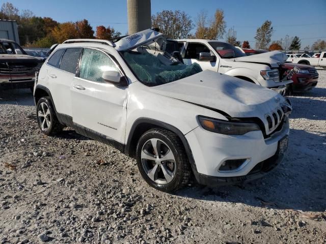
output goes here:
{"type": "Polygon", "coordinates": [[[73,122],[124,143],[128,89],[75,77],[73,122]]]}

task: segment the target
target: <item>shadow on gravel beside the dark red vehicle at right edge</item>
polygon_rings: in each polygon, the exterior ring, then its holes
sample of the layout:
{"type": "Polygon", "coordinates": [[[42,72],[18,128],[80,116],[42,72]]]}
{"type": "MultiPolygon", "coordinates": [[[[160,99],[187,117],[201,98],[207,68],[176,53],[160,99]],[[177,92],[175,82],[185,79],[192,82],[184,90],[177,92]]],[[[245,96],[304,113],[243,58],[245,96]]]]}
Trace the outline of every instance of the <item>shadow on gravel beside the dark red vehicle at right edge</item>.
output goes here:
{"type": "Polygon", "coordinates": [[[311,97],[291,97],[290,100],[293,107],[293,112],[290,114],[290,118],[326,120],[326,101],[311,99],[311,97]]]}

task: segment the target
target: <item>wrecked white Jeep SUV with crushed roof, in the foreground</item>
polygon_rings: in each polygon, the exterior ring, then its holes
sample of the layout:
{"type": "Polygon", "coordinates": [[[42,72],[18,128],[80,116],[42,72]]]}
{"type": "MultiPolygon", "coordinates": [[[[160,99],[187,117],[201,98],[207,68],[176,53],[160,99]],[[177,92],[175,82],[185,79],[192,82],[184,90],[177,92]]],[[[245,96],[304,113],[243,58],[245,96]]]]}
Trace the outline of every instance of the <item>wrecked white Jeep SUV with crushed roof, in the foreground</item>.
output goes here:
{"type": "Polygon", "coordinates": [[[165,53],[163,34],[68,40],[34,87],[41,131],[64,126],[137,159],[147,183],[171,192],[236,184],[273,169],[287,149],[289,101],[273,90],[165,53]]]}

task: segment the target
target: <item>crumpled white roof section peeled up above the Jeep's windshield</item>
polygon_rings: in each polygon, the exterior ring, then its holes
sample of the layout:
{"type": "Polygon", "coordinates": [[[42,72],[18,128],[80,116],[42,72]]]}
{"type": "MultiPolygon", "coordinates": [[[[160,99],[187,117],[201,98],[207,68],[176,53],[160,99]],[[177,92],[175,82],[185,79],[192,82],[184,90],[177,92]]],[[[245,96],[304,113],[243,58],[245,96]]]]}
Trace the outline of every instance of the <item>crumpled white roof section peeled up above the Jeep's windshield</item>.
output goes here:
{"type": "Polygon", "coordinates": [[[138,32],[127,37],[121,38],[117,41],[116,50],[125,51],[131,48],[141,46],[149,41],[157,39],[159,37],[164,37],[164,34],[153,31],[152,29],[145,29],[142,32],[138,32]]]}

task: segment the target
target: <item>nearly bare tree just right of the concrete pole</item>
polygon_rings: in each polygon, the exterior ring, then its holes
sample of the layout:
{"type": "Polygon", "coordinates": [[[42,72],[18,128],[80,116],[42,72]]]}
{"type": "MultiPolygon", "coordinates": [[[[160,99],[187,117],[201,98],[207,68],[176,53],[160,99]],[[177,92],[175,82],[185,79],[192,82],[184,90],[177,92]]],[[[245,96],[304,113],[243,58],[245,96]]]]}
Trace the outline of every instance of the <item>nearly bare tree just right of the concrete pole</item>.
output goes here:
{"type": "Polygon", "coordinates": [[[152,15],[152,26],[159,28],[168,39],[187,38],[194,27],[191,17],[180,10],[163,10],[152,15]]]}

